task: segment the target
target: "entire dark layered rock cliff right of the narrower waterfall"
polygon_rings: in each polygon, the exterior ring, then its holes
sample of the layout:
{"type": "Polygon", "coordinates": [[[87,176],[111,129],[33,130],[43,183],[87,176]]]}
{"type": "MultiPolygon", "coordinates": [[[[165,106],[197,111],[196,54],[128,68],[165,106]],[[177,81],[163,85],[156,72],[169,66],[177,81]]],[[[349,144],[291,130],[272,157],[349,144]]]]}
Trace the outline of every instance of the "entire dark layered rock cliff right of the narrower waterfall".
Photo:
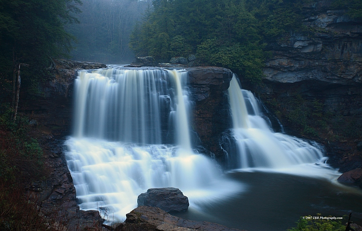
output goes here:
{"type": "Polygon", "coordinates": [[[362,23],[331,9],[327,0],[304,7],[312,33],[269,44],[264,85],[253,90],[289,133],[324,144],[344,172],[362,165],[356,149],[362,138],[362,23]]]}

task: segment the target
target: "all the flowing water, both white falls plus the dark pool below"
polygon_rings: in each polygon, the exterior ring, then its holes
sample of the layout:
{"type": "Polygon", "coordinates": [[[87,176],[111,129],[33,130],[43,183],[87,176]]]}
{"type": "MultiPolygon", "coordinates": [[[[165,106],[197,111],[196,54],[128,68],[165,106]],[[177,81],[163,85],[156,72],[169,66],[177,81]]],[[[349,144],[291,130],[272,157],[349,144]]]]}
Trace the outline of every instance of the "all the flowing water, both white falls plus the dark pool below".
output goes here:
{"type": "Polygon", "coordinates": [[[300,216],[349,211],[362,221],[360,190],[336,182],[340,174],[318,144],[273,132],[235,76],[228,90],[234,148],[224,147],[233,170],[222,173],[194,151],[187,77],[162,69],[79,72],[66,158],[81,209],[122,221],[140,193],[176,187],[190,207],[175,215],[230,227],[285,230],[300,216]]]}

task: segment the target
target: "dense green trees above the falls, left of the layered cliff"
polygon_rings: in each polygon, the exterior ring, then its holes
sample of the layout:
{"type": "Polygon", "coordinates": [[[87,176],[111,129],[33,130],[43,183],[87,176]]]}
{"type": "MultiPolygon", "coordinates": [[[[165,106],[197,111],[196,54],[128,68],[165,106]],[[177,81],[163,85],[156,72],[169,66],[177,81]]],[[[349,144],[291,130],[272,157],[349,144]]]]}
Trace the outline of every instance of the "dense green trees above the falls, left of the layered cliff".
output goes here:
{"type": "Polygon", "coordinates": [[[130,48],[159,60],[197,54],[200,64],[230,68],[259,82],[266,42],[304,30],[308,0],[154,0],[134,28],[130,48]]]}

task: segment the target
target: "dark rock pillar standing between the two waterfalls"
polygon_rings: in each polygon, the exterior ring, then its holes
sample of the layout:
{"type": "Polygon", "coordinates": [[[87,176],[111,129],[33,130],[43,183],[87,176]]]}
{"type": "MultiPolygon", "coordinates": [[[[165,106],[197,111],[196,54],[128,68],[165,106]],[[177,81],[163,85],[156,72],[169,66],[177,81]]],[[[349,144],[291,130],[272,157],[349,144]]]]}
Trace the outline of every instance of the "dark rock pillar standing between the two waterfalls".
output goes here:
{"type": "Polygon", "coordinates": [[[219,137],[231,126],[225,92],[233,73],[222,67],[191,67],[187,70],[195,101],[193,128],[201,140],[200,145],[221,159],[224,153],[220,149],[219,137]]]}

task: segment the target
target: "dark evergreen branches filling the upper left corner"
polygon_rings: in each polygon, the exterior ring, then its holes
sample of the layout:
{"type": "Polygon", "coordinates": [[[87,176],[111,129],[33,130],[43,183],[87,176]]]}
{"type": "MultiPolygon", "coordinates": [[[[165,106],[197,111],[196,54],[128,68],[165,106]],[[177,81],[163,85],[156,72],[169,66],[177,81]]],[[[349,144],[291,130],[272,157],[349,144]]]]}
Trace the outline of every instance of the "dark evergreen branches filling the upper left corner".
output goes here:
{"type": "Polygon", "coordinates": [[[25,84],[47,75],[50,57],[65,56],[73,36],[64,25],[77,22],[80,0],[0,0],[0,85],[9,83],[19,63],[25,84]]]}

